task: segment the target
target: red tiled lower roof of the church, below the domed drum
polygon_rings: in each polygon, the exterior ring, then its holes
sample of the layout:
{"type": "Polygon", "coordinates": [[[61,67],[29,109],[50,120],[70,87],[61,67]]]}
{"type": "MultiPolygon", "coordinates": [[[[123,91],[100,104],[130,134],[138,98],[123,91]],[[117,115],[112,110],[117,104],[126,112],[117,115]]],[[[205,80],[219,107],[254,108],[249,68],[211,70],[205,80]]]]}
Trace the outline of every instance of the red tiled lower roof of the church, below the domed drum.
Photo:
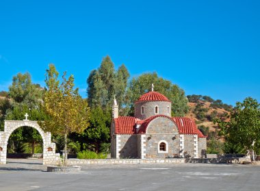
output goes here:
{"type": "Polygon", "coordinates": [[[180,134],[198,135],[198,138],[206,137],[197,129],[194,120],[186,117],[170,118],[165,115],[151,116],[150,118],[146,118],[146,120],[140,120],[132,116],[119,116],[118,118],[114,118],[116,134],[135,134],[136,125],[141,125],[138,133],[144,134],[146,133],[149,123],[157,117],[164,117],[172,120],[172,122],[177,125],[180,134]]]}

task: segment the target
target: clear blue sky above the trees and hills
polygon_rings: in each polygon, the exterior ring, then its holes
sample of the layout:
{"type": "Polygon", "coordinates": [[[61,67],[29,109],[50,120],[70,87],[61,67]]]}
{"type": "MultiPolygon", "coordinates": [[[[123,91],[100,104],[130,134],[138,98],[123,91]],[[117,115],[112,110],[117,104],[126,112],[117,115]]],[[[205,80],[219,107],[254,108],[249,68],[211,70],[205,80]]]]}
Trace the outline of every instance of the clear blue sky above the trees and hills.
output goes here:
{"type": "Polygon", "coordinates": [[[260,1],[0,1],[0,90],[49,63],[86,79],[105,55],[137,77],[156,71],[186,94],[260,101],[260,1]]]}

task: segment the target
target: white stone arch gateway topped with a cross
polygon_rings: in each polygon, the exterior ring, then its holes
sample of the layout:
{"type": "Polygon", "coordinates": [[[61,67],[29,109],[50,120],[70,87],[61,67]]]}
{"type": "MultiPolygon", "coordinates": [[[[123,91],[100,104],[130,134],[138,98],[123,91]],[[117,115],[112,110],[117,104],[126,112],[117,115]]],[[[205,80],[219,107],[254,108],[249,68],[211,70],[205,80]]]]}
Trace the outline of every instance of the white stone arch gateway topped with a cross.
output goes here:
{"type": "Polygon", "coordinates": [[[6,164],[8,140],[15,129],[19,127],[32,127],[36,129],[43,142],[43,164],[55,164],[60,161],[60,153],[55,153],[55,143],[51,142],[51,133],[44,132],[37,121],[34,120],[5,120],[4,131],[0,131],[0,164],[6,164]],[[51,149],[50,149],[51,148],[51,149]]]}

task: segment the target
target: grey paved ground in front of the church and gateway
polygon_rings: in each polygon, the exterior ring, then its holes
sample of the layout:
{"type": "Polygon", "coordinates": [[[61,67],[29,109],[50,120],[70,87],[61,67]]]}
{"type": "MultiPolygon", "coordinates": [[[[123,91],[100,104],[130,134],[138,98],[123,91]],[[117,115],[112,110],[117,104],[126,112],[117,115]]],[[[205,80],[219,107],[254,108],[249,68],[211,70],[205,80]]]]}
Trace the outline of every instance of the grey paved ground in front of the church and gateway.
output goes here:
{"type": "Polygon", "coordinates": [[[41,162],[1,164],[0,190],[260,190],[258,165],[95,165],[80,173],[47,173],[41,162]]]}

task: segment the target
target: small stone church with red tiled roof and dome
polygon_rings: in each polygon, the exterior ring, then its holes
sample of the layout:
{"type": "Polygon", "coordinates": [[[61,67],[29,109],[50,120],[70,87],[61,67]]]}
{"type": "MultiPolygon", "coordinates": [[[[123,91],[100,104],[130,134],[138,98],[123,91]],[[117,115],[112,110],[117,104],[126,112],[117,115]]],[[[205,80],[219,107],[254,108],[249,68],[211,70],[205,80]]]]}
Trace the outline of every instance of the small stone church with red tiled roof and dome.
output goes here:
{"type": "Polygon", "coordinates": [[[194,120],[171,116],[171,101],[151,90],[134,103],[134,116],[118,116],[114,99],[111,125],[112,158],[156,159],[204,157],[206,137],[194,120]]]}

